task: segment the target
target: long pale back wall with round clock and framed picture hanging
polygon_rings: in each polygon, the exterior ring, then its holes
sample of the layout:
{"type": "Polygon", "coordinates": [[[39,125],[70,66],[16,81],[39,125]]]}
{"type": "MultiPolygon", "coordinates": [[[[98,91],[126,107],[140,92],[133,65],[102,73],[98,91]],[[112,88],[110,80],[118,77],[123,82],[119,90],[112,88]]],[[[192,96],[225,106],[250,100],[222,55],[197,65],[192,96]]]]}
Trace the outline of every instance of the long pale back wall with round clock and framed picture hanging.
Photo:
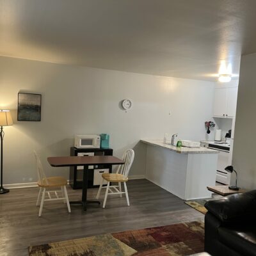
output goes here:
{"type": "Polygon", "coordinates": [[[204,140],[211,120],[214,84],[40,61],[0,58],[0,108],[12,109],[15,124],[6,127],[4,184],[36,181],[33,149],[47,175],[66,175],[51,168],[48,156],[68,156],[74,134],[110,134],[115,156],[134,148],[131,175],[145,173],[141,138],[165,132],[204,140]],[[17,122],[17,93],[42,93],[42,122],[17,122]],[[133,107],[125,113],[120,101],[133,107]],[[171,111],[172,115],[169,115],[171,111]]]}

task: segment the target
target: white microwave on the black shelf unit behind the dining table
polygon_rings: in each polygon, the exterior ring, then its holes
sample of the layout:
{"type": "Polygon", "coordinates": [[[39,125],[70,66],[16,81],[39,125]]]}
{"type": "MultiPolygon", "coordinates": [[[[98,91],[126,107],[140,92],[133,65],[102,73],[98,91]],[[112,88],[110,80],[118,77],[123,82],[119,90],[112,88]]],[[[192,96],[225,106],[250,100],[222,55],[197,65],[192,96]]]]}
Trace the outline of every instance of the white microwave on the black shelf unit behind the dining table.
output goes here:
{"type": "Polygon", "coordinates": [[[99,135],[76,135],[75,136],[76,148],[100,148],[99,135]]]}

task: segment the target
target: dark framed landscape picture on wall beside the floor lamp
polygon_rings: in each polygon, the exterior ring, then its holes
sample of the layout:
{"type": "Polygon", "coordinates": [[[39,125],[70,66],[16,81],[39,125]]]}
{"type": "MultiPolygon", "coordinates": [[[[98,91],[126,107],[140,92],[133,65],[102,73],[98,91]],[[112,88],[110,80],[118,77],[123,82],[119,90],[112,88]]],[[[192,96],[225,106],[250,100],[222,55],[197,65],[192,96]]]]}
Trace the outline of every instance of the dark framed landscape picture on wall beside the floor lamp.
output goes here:
{"type": "Polygon", "coordinates": [[[18,121],[41,121],[41,94],[18,93],[18,121]]]}

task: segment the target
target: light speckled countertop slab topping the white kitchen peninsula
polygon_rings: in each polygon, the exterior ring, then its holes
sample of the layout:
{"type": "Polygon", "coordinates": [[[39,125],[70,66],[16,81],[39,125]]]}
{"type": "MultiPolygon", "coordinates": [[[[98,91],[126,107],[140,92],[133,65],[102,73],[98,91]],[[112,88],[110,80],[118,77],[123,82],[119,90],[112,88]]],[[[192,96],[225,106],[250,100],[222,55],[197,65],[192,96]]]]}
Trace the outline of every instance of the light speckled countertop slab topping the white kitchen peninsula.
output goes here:
{"type": "Polygon", "coordinates": [[[175,147],[168,144],[164,144],[163,140],[147,140],[147,139],[142,139],[140,140],[143,143],[146,143],[148,145],[153,145],[156,147],[162,147],[162,148],[167,148],[170,149],[171,151],[177,152],[179,154],[218,154],[218,150],[213,150],[210,148],[187,148],[187,147],[175,147]]]}

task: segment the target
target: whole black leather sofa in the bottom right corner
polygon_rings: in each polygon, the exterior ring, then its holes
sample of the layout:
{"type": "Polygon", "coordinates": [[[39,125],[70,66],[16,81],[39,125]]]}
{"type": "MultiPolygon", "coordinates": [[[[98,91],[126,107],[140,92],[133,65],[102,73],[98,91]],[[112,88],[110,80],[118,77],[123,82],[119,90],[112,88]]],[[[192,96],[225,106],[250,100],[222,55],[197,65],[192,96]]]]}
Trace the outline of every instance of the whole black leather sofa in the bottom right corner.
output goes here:
{"type": "Polygon", "coordinates": [[[205,252],[256,256],[256,190],[205,204],[205,252]]]}

